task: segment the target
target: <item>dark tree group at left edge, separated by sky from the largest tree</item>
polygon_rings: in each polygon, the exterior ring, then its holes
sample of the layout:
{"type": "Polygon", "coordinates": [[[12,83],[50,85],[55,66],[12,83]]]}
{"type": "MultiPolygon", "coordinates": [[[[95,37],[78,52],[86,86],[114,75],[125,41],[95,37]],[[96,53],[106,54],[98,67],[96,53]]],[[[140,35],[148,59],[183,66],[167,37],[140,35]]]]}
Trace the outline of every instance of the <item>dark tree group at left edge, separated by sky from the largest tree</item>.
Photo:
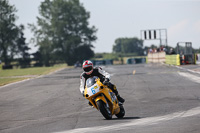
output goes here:
{"type": "Polygon", "coordinates": [[[15,56],[21,57],[19,60],[21,66],[30,62],[28,54],[30,48],[25,43],[24,26],[15,25],[16,11],[7,0],[0,1],[0,57],[8,67],[15,56]]]}

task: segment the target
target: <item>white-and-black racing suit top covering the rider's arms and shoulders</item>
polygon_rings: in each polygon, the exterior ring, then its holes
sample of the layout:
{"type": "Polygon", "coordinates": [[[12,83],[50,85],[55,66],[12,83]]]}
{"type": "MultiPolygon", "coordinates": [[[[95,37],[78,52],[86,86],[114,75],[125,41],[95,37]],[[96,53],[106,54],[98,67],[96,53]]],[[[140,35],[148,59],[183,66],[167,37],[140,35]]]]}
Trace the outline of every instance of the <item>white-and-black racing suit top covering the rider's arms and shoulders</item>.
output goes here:
{"type": "Polygon", "coordinates": [[[87,75],[85,72],[83,72],[80,76],[81,94],[84,94],[86,80],[92,76],[98,76],[101,82],[103,82],[105,78],[108,78],[110,80],[110,74],[104,71],[101,67],[94,68],[93,72],[90,75],[87,75]]]}

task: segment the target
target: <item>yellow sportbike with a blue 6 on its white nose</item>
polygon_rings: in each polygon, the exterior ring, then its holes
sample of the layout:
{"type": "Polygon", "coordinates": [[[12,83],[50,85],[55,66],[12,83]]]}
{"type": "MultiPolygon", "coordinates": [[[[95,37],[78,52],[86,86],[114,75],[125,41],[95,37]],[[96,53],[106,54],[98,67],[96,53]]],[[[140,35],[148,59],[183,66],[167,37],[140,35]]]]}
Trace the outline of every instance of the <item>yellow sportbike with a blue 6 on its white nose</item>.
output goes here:
{"type": "Polygon", "coordinates": [[[84,96],[106,119],[112,119],[113,115],[123,118],[125,115],[124,107],[115,93],[102,84],[97,76],[87,79],[84,96]]]}

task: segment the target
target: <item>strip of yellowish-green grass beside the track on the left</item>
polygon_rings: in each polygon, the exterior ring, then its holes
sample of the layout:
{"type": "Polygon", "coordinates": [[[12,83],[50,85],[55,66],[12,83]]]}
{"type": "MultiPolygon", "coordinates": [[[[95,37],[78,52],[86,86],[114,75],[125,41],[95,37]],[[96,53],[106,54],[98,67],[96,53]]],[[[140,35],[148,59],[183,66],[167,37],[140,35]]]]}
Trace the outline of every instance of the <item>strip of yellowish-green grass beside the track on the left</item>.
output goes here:
{"type": "Polygon", "coordinates": [[[55,65],[53,67],[33,67],[33,68],[10,69],[10,70],[0,69],[0,86],[31,77],[45,75],[66,67],[67,67],[66,64],[61,64],[61,65],[55,65]]]}

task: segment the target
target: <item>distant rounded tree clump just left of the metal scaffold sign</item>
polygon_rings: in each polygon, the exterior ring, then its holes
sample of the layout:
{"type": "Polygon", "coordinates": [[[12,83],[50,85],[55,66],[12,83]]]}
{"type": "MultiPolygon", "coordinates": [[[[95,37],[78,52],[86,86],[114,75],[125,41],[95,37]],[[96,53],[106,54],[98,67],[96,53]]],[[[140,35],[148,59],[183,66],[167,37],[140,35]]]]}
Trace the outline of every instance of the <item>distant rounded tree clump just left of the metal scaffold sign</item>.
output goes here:
{"type": "Polygon", "coordinates": [[[118,38],[113,45],[113,52],[143,55],[143,41],[138,38],[118,38]]]}

